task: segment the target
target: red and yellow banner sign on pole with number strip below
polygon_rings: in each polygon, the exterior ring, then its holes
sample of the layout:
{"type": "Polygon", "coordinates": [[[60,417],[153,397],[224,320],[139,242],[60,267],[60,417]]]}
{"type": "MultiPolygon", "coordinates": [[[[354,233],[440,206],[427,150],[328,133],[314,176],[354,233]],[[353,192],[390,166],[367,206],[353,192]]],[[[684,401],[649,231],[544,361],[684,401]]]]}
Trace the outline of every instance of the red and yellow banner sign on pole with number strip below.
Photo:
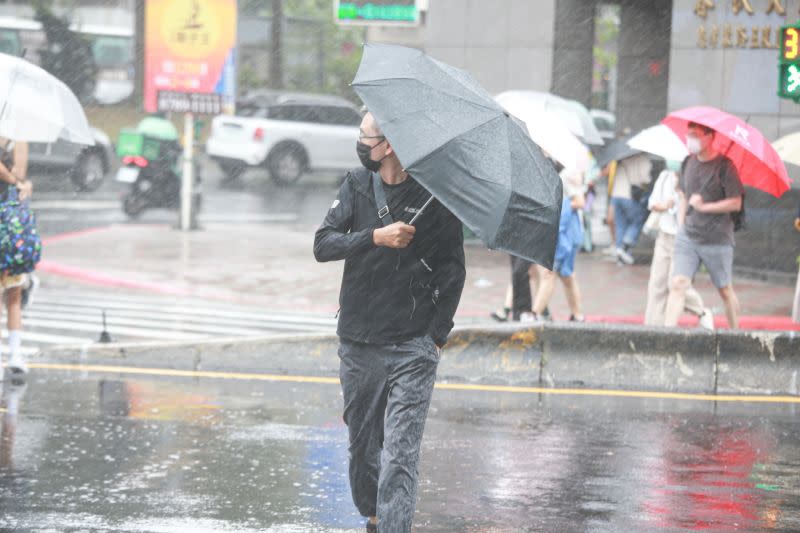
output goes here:
{"type": "Polygon", "coordinates": [[[145,110],[233,111],[236,0],[147,0],[145,110]]]}

